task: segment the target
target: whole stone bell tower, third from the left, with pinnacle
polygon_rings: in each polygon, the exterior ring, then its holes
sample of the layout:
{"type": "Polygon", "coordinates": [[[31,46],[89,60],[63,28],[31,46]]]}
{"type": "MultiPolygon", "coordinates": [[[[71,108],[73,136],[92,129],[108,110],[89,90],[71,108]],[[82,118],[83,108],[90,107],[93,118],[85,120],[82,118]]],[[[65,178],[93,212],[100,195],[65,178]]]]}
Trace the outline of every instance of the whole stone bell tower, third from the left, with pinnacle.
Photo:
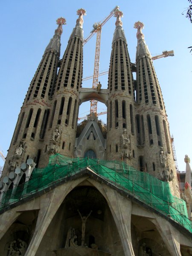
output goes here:
{"type": "Polygon", "coordinates": [[[122,29],[123,13],[117,10],[108,79],[107,160],[123,160],[136,167],[134,134],[134,81],[127,40],[122,29]]]}

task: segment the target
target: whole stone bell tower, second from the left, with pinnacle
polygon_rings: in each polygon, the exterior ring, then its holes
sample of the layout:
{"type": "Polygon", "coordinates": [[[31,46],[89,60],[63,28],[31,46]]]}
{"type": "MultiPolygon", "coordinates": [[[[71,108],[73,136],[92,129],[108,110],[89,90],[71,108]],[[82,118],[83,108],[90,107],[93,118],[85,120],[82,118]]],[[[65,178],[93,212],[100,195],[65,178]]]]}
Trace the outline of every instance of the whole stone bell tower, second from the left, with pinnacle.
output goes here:
{"type": "Polygon", "coordinates": [[[70,35],[52,90],[46,145],[44,145],[47,150],[44,155],[60,153],[72,157],[74,154],[79,88],[83,70],[83,16],[86,15],[86,11],[79,9],[77,15],[79,17],[70,35]]]}

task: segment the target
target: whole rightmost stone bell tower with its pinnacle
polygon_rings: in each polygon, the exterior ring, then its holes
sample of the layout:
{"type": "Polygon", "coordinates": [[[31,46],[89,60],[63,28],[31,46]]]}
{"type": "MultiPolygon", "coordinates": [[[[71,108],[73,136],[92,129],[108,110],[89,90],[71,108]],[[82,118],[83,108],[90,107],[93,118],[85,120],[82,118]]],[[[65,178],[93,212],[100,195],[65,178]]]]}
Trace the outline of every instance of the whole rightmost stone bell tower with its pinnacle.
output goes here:
{"type": "Polygon", "coordinates": [[[134,24],[134,28],[137,29],[137,114],[135,119],[139,169],[160,180],[170,181],[173,194],[178,196],[169,122],[151,54],[145,44],[143,27],[144,24],[140,21],[134,24]]]}

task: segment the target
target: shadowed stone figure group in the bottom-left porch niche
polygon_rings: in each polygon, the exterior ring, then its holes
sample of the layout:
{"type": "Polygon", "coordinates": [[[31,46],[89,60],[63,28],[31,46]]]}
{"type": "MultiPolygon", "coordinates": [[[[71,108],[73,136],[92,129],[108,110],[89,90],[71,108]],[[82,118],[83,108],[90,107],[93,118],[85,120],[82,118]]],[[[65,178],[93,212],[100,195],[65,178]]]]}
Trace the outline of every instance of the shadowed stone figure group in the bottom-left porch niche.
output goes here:
{"type": "Polygon", "coordinates": [[[10,242],[8,247],[8,256],[24,256],[26,253],[27,244],[21,239],[16,239],[10,242]]]}

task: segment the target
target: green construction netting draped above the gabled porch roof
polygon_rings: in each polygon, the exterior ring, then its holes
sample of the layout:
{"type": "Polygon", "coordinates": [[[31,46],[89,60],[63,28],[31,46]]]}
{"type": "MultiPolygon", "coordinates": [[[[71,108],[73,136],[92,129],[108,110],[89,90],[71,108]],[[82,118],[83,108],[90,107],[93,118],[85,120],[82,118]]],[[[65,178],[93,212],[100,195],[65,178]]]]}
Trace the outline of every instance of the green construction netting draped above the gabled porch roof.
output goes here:
{"type": "Polygon", "coordinates": [[[48,166],[34,169],[29,181],[4,192],[0,209],[9,207],[9,204],[35,194],[66,177],[76,175],[86,167],[134,198],[169,216],[192,233],[186,203],[171,194],[169,183],[146,172],[139,172],[124,162],[88,157],[69,158],[60,154],[51,156],[48,166]]]}

